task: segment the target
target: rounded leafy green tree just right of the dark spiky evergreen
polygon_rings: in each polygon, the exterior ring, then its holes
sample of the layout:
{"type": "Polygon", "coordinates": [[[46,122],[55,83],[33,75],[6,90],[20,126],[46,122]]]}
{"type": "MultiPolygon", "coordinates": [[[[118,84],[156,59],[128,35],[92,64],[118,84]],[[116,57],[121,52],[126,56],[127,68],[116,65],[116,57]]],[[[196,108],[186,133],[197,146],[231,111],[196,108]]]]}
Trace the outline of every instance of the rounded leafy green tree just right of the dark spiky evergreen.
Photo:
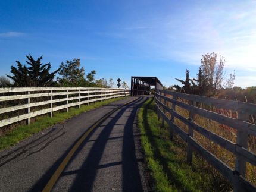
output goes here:
{"type": "Polygon", "coordinates": [[[82,87],[85,83],[85,69],[80,68],[80,59],[73,59],[73,61],[65,61],[60,64],[59,75],[57,81],[62,87],[82,87]]]}

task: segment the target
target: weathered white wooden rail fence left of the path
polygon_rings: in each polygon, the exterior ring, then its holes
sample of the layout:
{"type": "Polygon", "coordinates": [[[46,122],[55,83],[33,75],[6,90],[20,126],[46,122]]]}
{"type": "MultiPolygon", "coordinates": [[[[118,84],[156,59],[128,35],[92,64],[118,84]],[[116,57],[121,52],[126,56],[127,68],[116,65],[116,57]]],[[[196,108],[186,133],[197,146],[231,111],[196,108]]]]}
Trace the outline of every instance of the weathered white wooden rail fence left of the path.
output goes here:
{"type": "Polygon", "coordinates": [[[84,87],[24,87],[0,88],[0,127],[60,109],[129,96],[127,89],[84,87]],[[20,101],[20,102],[18,102],[20,101]],[[40,108],[38,108],[40,106],[40,108]],[[11,115],[10,115],[11,113],[11,115]],[[8,115],[5,115],[8,114],[8,115]]]}

